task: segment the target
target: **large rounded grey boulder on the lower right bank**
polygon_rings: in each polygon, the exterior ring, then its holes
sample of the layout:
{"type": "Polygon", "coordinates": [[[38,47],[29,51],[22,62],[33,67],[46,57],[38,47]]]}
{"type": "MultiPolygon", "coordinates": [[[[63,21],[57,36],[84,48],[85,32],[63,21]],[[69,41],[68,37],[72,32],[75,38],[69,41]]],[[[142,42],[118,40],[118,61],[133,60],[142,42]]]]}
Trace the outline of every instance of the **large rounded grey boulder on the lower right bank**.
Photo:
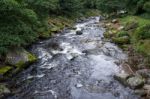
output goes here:
{"type": "Polygon", "coordinates": [[[128,78],[127,84],[132,89],[142,88],[144,86],[144,79],[140,76],[133,76],[128,78]]]}

